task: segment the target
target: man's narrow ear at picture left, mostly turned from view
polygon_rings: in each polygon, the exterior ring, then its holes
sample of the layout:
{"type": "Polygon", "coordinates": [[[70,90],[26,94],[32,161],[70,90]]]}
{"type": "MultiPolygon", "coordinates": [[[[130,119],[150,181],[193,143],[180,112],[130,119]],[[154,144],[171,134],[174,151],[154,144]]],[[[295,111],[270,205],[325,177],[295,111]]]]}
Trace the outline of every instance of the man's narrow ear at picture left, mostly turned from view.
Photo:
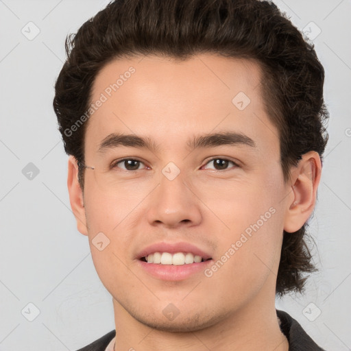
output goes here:
{"type": "Polygon", "coordinates": [[[84,235],[88,235],[86,228],[86,217],[84,208],[83,191],[78,182],[78,165],[73,156],[69,156],[69,172],[67,177],[67,187],[69,189],[69,202],[75,220],[77,221],[77,230],[84,235]]]}

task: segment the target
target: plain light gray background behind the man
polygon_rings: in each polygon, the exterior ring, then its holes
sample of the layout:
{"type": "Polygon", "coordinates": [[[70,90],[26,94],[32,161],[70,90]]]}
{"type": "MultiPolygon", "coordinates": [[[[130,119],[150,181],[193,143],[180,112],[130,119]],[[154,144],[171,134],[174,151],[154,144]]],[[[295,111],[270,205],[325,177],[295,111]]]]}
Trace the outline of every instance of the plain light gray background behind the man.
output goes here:
{"type": "MultiPolygon", "coordinates": [[[[51,107],[66,34],[107,3],[0,0],[1,351],[77,350],[114,329],[112,298],[71,213],[67,156],[51,107]]],[[[330,111],[310,221],[319,272],[304,295],[287,296],[277,307],[298,319],[320,346],[351,350],[351,3],[276,4],[313,39],[326,70],[330,111]]]]}

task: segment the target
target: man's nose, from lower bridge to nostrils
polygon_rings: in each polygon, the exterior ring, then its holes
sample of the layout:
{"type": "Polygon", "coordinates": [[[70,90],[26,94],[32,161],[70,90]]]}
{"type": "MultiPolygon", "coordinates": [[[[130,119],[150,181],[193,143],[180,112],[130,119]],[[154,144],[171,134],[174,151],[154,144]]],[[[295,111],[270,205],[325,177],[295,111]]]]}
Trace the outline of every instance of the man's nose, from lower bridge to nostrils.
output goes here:
{"type": "Polygon", "coordinates": [[[202,202],[191,182],[184,178],[182,172],[173,180],[160,177],[147,210],[147,220],[152,226],[178,228],[195,226],[202,221],[202,202]]]}

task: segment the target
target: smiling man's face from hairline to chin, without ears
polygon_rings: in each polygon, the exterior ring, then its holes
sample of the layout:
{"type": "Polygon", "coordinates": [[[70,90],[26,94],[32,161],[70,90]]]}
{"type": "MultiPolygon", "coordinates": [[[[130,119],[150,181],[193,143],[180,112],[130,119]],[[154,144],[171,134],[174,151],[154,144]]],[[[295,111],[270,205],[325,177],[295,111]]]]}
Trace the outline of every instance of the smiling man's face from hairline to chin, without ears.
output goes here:
{"type": "Polygon", "coordinates": [[[97,75],[80,231],[114,307],[138,322],[198,330],[274,299],[289,189],[260,80],[256,63],[208,54],[97,75]],[[178,265],[186,254],[202,262],[178,265]]]}

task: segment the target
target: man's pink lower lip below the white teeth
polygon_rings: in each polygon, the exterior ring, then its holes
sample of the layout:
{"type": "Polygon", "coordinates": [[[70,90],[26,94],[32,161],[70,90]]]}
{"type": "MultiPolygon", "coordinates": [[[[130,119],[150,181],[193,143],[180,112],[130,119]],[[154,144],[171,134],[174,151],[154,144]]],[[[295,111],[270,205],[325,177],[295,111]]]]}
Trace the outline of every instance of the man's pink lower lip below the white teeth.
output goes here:
{"type": "Polygon", "coordinates": [[[199,263],[189,263],[186,265],[161,265],[138,260],[138,264],[141,266],[141,269],[145,270],[155,278],[178,281],[185,280],[199,272],[204,272],[204,270],[212,264],[212,261],[213,260],[208,260],[199,263]]]}

